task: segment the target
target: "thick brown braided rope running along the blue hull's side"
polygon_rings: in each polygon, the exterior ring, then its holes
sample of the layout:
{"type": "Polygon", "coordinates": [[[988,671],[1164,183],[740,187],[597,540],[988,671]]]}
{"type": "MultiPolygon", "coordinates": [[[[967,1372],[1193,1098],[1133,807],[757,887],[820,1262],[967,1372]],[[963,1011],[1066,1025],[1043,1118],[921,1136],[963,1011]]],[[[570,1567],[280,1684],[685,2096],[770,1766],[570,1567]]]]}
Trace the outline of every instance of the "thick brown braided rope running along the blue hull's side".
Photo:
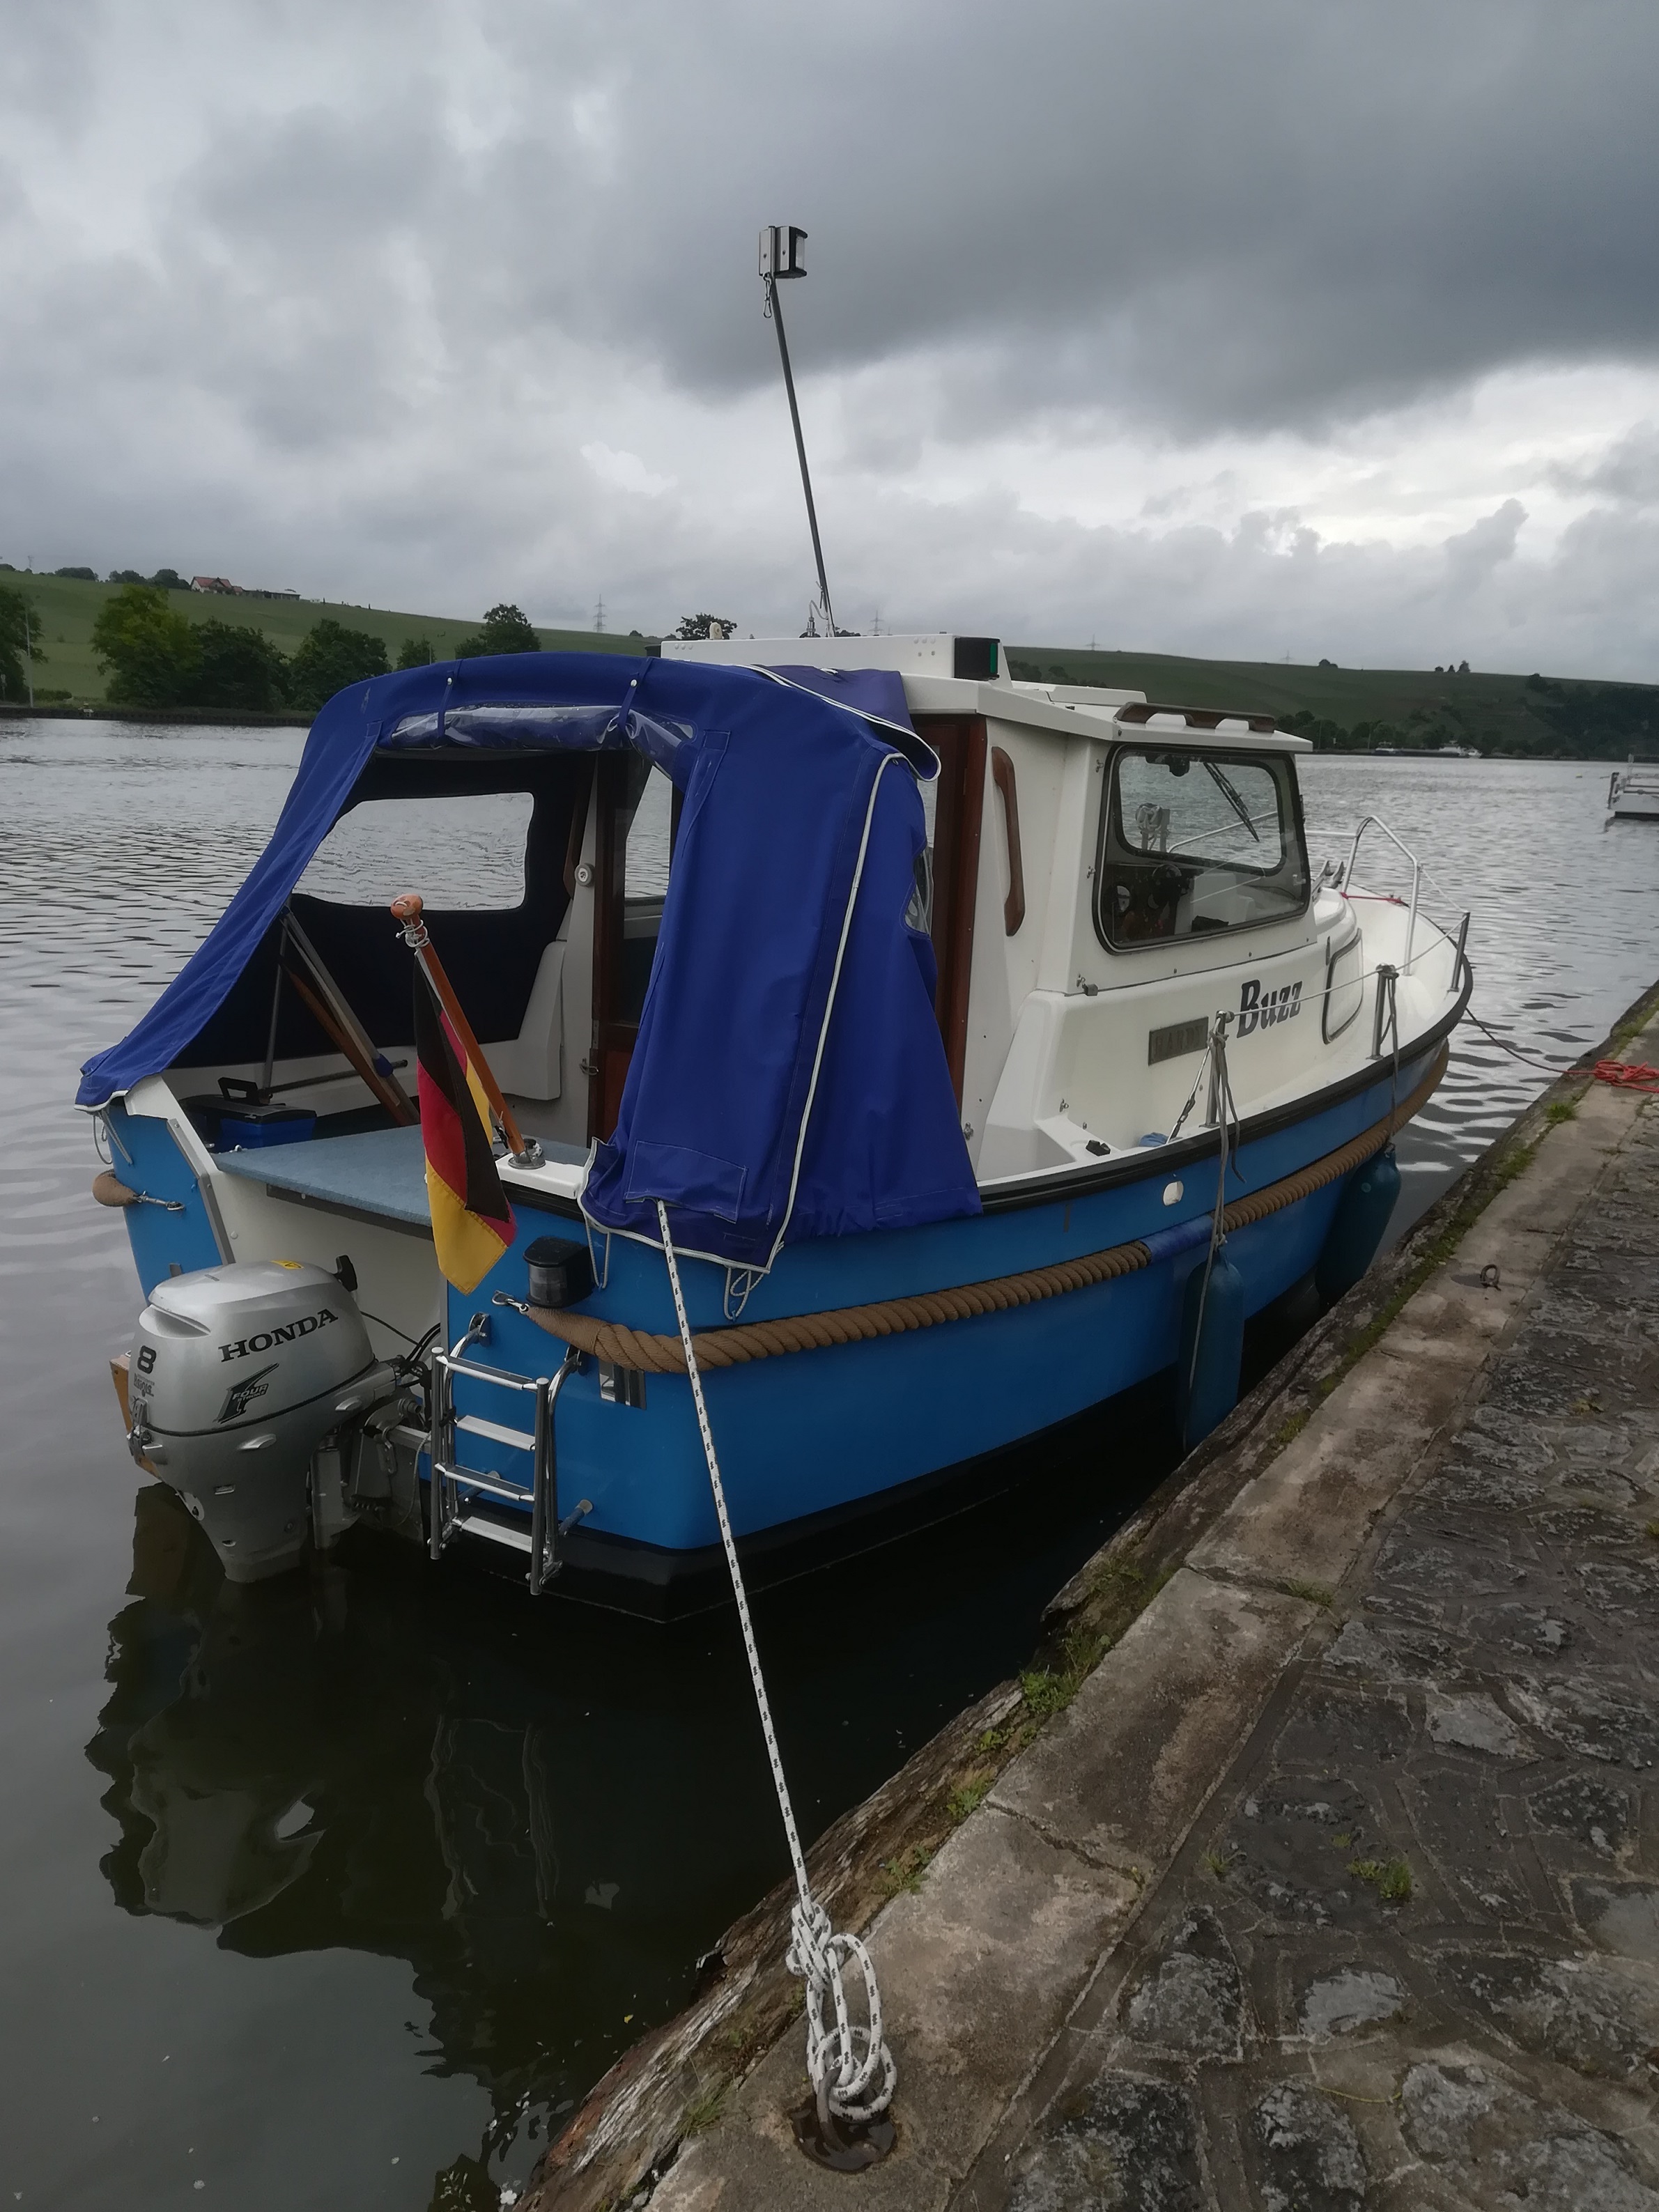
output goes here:
{"type": "MultiPolygon", "coordinates": [[[[1279,1183],[1252,1190],[1243,1199],[1232,1199],[1221,1214],[1223,1234],[1265,1221],[1270,1214],[1296,1206],[1301,1199],[1325,1190],[1329,1183],[1365,1166],[1398,1128],[1418,1115],[1447,1073],[1449,1051],[1436,1053],[1433,1066],[1394,1113],[1378,1124],[1349,1137],[1345,1146],[1310,1161],[1296,1175],[1279,1183]]],[[[929,1290],[914,1298],[878,1298],[874,1305],[841,1305],[823,1314],[787,1314],[781,1321],[743,1321],[730,1329],[703,1329],[692,1338],[697,1365],[741,1367],[748,1360],[770,1360],[783,1352],[821,1352],[827,1345],[860,1345],[874,1336],[902,1336],[907,1329],[931,1329],[940,1321],[971,1321],[978,1314],[1002,1314],[1013,1305],[1037,1305],[1042,1298],[1060,1298],[1068,1290],[1088,1290],[1108,1283],[1119,1274],[1137,1274],[1152,1265],[1152,1252],[1139,1239],[1108,1245],[1104,1252],[1088,1252],[1084,1259],[1062,1259],[1048,1267],[1029,1267],[1024,1274],[998,1274],[984,1283],[962,1283],[958,1290],[929,1290]]],[[[599,1321],[595,1314],[553,1312],[533,1305],[531,1321],[549,1336],[575,1345],[613,1367],[633,1367],[644,1374],[686,1374],[686,1349],[679,1336],[657,1336],[653,1329],[630,1329],[622,1321],[599,1321]]]]}

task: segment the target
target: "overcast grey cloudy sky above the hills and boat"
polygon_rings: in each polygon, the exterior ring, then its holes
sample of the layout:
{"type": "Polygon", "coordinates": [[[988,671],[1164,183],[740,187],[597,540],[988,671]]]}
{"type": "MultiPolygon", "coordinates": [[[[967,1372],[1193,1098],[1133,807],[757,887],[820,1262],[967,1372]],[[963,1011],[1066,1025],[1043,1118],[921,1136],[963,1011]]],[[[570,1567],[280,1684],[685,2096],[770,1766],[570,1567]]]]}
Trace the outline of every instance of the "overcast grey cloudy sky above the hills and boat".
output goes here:
{"type": "Polygon", "coordinates": [[[1655,0],[0,0],[0,560],[1659,681],[1655,0]]]}

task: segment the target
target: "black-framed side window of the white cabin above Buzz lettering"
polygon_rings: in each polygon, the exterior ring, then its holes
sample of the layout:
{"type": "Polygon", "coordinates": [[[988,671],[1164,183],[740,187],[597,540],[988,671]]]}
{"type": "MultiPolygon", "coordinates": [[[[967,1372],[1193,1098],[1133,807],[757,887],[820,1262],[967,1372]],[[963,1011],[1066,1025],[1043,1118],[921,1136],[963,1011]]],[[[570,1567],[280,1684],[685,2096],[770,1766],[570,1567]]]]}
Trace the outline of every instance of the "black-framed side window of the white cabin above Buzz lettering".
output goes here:
{"type": "Polygon", "coordinates": [[[1307,852],[1290,761],[1121,750],[1102,810],[1095,887],[1095,931],[1113,951],[1301,914],[1307,852]]]}

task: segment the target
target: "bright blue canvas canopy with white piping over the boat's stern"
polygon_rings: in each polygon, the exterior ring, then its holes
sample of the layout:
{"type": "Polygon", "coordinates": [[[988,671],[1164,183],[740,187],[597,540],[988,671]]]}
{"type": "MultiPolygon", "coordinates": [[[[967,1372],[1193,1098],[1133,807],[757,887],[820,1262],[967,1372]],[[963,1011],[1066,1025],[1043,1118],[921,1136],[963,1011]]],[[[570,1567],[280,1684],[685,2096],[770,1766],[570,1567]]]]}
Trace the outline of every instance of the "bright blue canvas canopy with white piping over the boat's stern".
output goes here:
{"type": "Polygon", "coordinates": [[[933,1020],[933,949],[907,922],[925,843],[916,774],[936,763],[898,677],[858,670],[825,690],[588,653],[354,684],[312,723],[248,880],[144,1020],[86,1064],[80,1104],[108,1104],[179,1060],[376,748],[635,748],[684,810],[617,1128],[588,1168],[588,1219],[655,1241],[664,1199],[675,1243],[768,1267],[783,1241],[978,1212],[933,1020]]]}

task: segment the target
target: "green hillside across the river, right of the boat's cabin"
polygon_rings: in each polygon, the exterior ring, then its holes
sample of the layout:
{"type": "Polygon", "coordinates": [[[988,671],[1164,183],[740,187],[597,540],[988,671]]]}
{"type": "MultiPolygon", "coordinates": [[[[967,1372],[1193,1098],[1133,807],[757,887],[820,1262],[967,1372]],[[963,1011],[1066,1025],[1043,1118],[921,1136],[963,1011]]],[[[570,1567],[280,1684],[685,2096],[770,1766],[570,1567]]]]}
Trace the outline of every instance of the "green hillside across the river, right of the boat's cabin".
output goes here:
{"type": "Polygon", "coordinates": [[[1009,646],[1026,681],[1106,684],[1170,706],[1276,714],[1323,750],[1478,745],[1480,752],[1571,759],[1659,757],[1659,686],[1480,670],[1303,668],[1292,661],[1194,661],[1159,653],[1009,646]]]}

